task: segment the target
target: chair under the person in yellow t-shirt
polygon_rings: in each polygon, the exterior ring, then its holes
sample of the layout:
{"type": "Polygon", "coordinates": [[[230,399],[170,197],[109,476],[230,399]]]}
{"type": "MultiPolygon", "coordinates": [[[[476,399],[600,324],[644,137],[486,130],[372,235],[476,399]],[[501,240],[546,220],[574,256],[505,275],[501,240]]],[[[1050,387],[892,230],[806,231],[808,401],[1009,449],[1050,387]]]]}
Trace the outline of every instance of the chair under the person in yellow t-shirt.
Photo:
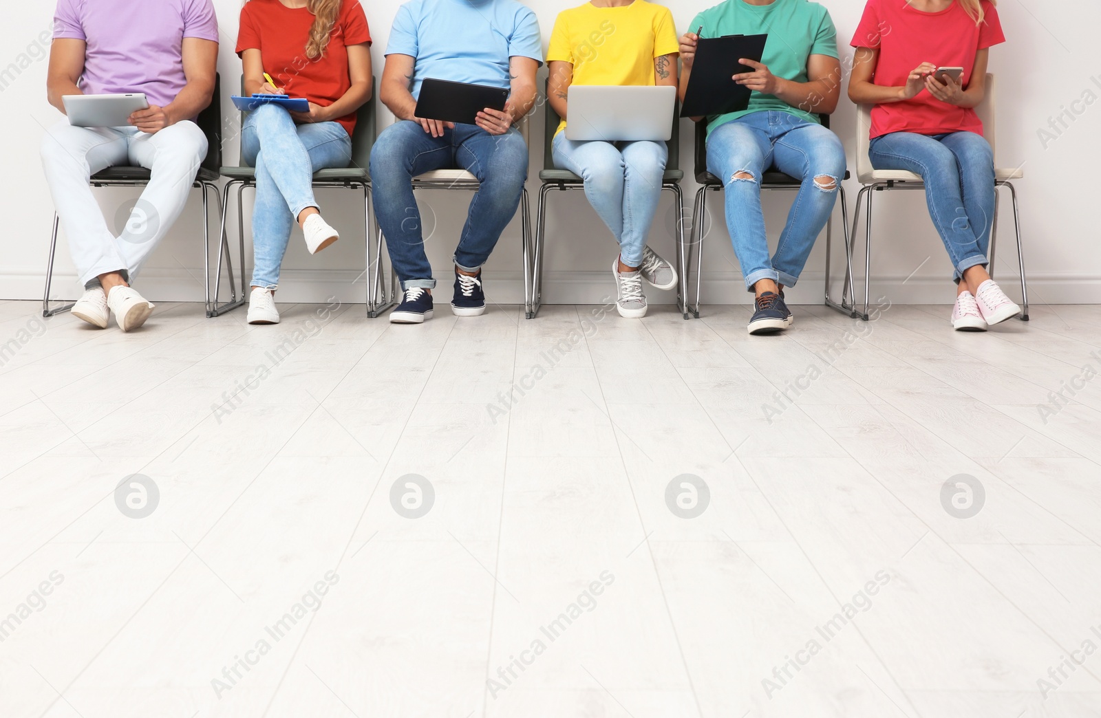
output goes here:
{"type": "MultiPolygon", "coordinates": [[[[554,166],[554,157],[552,156],[552,143],[554,142],[555,131],[558,129],[558,124],[562,118],[558,113],[554,111],[550,107],[549,100],[545,102],[546,105],[546,128],[544,130],[543,138],[543,170],[539,171],[539,180],[543,185],[539,187],[539,203],[536,209],[536,229],[535,229],[535,248],[534,248],[534,268],[533,268],[533,279],[532,279],[532,293],[531,301],[528,302],[527,318],[535,318],[536,313],[538,313],[539,307],[543,305],[543,249],[545,246],[546,238],[546,207],[547,207],[547,196],[552,189],[585,189],[585,182],[570,172],[569,170],[558,170],[554,166]]],[[[665,162],[665,174],[662,176],[662,189],[669,191],[676,198],[677,203],[677,266],[680,272],[679,286],[677,287],[677,305],[680,307],[682,313],[685,313],[685,303],[687,302],[684,289],[687,284],[684,281],[685,276],[685,257],[684,257],[684,195],[680,192],[680,181],[684,178],[685,173],[677,168],[678,160],[680,156],[680,121],[677,117],[677,111],[673,112],[673,135],[669,138],[668,142],[668,159],[665,162]]],[[[685,318],[687,314],[685,314],[685,318]]]]}

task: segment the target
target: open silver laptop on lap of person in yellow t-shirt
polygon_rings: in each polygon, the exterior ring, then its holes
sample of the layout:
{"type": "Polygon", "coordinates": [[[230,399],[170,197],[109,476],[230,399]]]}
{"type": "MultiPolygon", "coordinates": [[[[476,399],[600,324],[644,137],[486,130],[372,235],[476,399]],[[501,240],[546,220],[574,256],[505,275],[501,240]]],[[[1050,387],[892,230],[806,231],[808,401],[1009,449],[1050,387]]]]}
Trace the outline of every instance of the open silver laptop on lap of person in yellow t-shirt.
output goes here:
{"type": "Polygon", "coordinates": [[[570,85],[566,139],[666,141],[676,96],[669,85],[570,85]]]}

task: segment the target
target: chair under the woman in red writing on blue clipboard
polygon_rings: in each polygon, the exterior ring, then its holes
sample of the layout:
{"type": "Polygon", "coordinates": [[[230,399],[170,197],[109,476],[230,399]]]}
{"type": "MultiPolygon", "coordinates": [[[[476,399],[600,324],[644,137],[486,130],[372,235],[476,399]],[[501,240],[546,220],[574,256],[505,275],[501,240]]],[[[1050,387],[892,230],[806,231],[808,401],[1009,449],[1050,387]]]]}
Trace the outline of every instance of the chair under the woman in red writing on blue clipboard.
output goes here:
{"type": "MultiPolygon", "coordinates": [[[[244,91],[243,76],[241,77],[241,91],[244,91]]],[[[363,191],[363,216],[366,227],[364,244],[367,252],[367,270],[364,270],[364,273],[370,272],[371,268],[371,177],[369,175],[369,167],[371,166],[371,145],[374,143],[374,98],[377,93],[378,83],[372,77],[371,99],[364,102],[356,113],[356,129],[352,131],[351,135],[351,164],[347,167],[318,170],[314,173],[313,182],[314,187],[344,187],[346,189],[363,191]]],[[[242,128],[244,127],[246,115],[246,112],[241,112],[242,128]]],[[[226,183],[226,187],[222,191],[221,238],[224,243],[226,242],[226,216],[229,214],[229,193],[232,188],[237,188],[237,230],[241,259],[241,296],[237,296],[237,291],[233,285],[232,269],[230,269],[230,298],[224,304],[216,304],[209,307],[207,309],[208,317],[216,317],[219,314],[225,314],[226,312],[236,309],[248,301],[249,281],[244,275],[244,214],[242,207],[242,195],[244,194],[244,189],[247,187],[252,187],[253,189],[255,188],[257,171],[254,167],[246,166],[243,162],[239,162],[239,164],[240,166],[236,167],[221,167],[220,172],[222,176],[229,178],[229,182],[226,183]]],[[[226,259],[229,261],[228,244],[226,249],[226,259]]],[[[218,273],[220,280],[220,257],[218,262],[218,273]]],[[[368,280],[367,285],[367,306],[368,314],[370,314],[370,307],[374,301],[374,294],[370,280],[368,280]]],[[[215,297],[218,296],[218,290],[219,285],[216,284],[215,297]]]]}

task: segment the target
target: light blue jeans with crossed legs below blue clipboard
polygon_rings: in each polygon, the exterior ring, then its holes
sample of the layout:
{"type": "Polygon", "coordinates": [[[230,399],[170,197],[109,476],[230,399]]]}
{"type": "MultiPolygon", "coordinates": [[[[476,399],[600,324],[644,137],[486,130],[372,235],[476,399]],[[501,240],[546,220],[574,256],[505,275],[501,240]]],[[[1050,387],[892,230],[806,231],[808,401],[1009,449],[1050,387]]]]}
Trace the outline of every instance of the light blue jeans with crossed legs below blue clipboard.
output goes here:
{"type": "Polygon", "coordinates": [[[338,122],[295,124],[275,105],[249,113],[241,128],[241,160],[257,168],[252,206],[252,286],[275,289],[291,228],[314,199],[314,172],[347,167],[351,138],[338,122]]]}

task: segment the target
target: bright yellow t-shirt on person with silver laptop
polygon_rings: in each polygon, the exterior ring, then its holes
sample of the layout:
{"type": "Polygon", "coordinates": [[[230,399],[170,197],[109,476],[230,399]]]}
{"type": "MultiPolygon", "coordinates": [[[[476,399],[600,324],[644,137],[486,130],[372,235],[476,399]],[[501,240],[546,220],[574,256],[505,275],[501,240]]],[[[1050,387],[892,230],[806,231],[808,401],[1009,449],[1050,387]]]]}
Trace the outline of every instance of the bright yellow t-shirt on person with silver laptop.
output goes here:
{"type": "MultiPolygon", "coordinates": [[[[547,62],[574,65],[574,85],[654,85],[654,59],[678,50],[668,8],[646,0],[621,8],[586,2],[558,13],[547,62]]],[[[557,131],[564,129],[566,120],[557,131]]]]}

